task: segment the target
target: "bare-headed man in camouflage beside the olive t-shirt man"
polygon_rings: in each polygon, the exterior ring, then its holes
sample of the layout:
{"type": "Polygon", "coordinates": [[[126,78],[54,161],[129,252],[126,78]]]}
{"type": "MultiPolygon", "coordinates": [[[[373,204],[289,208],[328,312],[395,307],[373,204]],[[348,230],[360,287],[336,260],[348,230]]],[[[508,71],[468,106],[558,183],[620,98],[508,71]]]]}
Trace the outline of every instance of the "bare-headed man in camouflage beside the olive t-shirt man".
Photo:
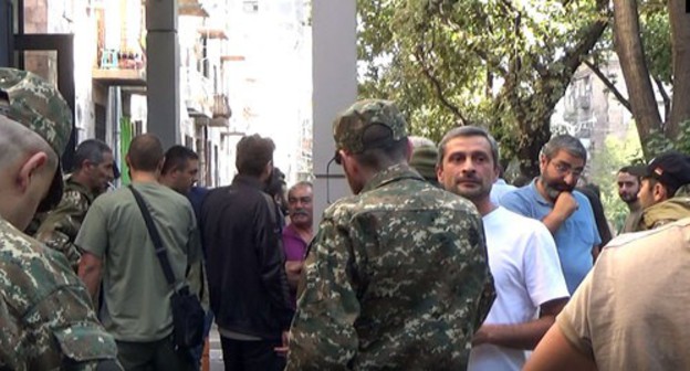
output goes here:
{"type": "Polygon", "coordinates": [[[65,179],[58,208],[49,212],[36,232],[36,240],[63,253],[76,272],[82,256],[74,245],[88,206],[114,179],[113,150],[98,139],[84,140],[74,153],[74,172],[65,179]]]}

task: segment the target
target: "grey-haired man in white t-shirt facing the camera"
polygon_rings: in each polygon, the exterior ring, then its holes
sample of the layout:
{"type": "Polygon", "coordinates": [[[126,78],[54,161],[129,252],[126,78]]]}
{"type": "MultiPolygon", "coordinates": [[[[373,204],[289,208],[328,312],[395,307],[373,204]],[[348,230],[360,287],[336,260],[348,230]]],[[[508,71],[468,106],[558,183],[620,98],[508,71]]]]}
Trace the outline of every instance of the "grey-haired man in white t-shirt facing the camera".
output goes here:
{"type": "Polygon", "coordinates": [[[487,130],[463,126],[439,146],[437,176],[447,191],[472,201],[484,222],[496,299],[474,335],[468,370],[520,370],[567,303],[556,245],[536,220],[491,202],[499,148],[487,130]]]}

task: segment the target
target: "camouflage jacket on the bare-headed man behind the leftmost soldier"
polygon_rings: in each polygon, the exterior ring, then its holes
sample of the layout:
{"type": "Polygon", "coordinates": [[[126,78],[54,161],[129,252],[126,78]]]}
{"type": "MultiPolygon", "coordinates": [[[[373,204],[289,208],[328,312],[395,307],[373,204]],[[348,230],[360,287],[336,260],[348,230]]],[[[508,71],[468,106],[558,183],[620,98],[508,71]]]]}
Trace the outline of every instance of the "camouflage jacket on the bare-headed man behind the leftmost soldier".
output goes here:
{"type": "Polygon", "coordinates": [[[35,234],[48,247],[63,253],[75,271],[82,253],[74,240],[94,198],[86,187],[67,177],[60,204],[45,216],[35,234]]]}

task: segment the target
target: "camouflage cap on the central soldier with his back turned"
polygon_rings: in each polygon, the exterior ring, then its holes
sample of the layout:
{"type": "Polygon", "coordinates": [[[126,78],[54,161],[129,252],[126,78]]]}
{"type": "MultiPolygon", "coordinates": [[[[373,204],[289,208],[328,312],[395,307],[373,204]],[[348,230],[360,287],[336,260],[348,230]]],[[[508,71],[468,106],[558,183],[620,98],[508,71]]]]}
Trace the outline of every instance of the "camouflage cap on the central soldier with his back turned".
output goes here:
{"type": "Polygon", "coordinates": [[[360,153],[365,149],[380,148],[407,137],[407,121],[390,100],[363,99],[341,113],[333,123],[333,138],[337,149],[360,153]],[[364,134],[374,125],[390,129],[390,137],[365,142],[364,134]]]}

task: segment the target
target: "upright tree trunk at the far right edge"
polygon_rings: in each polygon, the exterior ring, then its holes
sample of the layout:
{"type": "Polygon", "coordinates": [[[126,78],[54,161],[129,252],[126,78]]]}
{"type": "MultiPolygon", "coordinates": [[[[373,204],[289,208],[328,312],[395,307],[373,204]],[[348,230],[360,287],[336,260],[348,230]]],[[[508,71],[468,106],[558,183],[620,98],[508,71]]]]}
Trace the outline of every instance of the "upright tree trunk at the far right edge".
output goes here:
{"type": "Polygon", "coordinates": [[[673,51],[673,100],[671,119],[666,131],[669,138],[677,138],[679,124],[690,119],[690,13],[687,0],[669,0],[668,11],[671,24],[671,47],[673,51]]]}

